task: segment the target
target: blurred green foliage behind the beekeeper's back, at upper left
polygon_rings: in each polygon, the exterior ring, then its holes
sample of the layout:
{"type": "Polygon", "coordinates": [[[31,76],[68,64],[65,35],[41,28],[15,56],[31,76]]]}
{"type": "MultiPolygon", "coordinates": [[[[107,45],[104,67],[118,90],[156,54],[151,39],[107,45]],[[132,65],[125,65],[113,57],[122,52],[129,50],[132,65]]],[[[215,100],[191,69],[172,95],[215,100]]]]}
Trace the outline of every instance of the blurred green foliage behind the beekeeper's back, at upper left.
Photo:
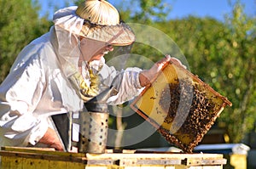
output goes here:
{"type": "Polygon", "coordinates": [[[7,76],[17,54],[49,29],[49,21],[38,19],[38,6],[31,0],[0,0],[0,82],[7,76]],[[26,8],[26,10],[25,10],[26,8]]]}

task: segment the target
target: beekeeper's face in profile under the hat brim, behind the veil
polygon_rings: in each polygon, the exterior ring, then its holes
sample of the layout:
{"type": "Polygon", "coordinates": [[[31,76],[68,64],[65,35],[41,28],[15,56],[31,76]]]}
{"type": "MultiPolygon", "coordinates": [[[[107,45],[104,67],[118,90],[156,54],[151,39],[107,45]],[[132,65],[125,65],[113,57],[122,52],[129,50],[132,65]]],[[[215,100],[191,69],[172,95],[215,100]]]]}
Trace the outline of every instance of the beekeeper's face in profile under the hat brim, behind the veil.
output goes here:
{"type": "Polygon", "coordinates": [[[113,46],[106,42],[99,42],[93,39],[81,38],[80,40],[80,59],[84,61],[92,61],[101,59],[108,52],[113,51],[113,46]]]}

